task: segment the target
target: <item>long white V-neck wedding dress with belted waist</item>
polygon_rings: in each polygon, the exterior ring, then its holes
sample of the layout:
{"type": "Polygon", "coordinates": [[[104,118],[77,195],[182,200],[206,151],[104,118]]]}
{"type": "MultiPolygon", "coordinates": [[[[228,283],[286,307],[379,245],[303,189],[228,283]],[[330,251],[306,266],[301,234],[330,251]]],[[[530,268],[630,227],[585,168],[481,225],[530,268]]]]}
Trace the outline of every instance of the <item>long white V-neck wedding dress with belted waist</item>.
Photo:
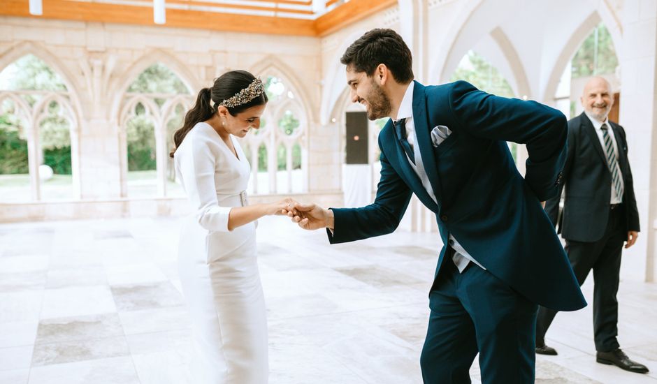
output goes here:
{"type": "Polygon", "coordinates": [[[180,233],[178,267],[194,332],[194,384],[268,381],[268,337],[257,265],[256,223],[228,230],[231,207],[246,205],[250,165],[212,126],[198,123],[175,152],[194,213],[180,233]]]}

